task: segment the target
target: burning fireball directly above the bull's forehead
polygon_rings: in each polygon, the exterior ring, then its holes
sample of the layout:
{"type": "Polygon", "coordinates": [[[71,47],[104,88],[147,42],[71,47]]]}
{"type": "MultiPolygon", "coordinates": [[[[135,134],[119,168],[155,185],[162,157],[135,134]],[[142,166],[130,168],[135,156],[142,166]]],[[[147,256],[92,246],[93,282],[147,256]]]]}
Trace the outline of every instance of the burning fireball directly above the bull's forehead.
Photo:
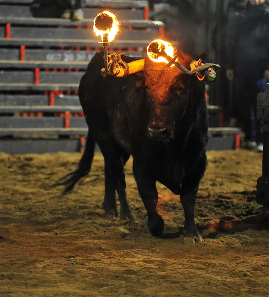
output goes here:
{"type": "MultiPolygon", "coordinates": [[[[153,40],[147,47],[147,55],[151,59],[151,61],[156,63],[169,62],[165,57],[161,56],[160,54],[162,50],[162,46],[165,47],[164,51],[166,54],[168,54],[172,58],[175,56],[176,51],[171,43],[168,43],[167,41],[164,41],[161,39],[156,39],[156,40],[153,40]]],[[[173,66],[175,65],[172,64],[171,67],[173,66]]]]}

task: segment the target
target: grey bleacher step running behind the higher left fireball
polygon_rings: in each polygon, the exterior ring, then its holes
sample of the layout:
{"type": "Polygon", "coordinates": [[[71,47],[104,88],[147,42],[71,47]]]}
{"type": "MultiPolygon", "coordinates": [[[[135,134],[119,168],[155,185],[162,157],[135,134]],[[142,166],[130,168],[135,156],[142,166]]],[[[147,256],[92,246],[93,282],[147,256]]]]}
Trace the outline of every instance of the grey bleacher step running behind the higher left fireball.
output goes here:
{"type": "MultiPolygon", "coordinates": [[[[33,18],[33,17],[0,17],[0,24],[8,24],[9,32],[7,36],[7,29],[0,26],[0,37],[8,38],[10,41],[18,38],[23,39],[40,39],[54,40],[58,39],[71,39],[71,40],[85,40],[88,39],[95,41],[98,45],[99,37],[96,37],[93,32],[93,20],[85,20],[81,22],[85,27],[76,28],[79,24],[70,20],[51,19],[51,18],[33,18]],[[14,26],[13,26],[14,25],[14,26]],[[33,27],[34,26],[34,27],[33,27]],[[89,26],[86,28],[86,26],[89,26]]],[[[162,32],[159,28],[163,26],[162,22],[152,22],[143,20],[123,21],[120,32],[117,34],[115,44],[118,40],[146,40],[151,41],[159,37],[162,32]],[[131,28],[132,30],[130,30],[131,28]]]]}

